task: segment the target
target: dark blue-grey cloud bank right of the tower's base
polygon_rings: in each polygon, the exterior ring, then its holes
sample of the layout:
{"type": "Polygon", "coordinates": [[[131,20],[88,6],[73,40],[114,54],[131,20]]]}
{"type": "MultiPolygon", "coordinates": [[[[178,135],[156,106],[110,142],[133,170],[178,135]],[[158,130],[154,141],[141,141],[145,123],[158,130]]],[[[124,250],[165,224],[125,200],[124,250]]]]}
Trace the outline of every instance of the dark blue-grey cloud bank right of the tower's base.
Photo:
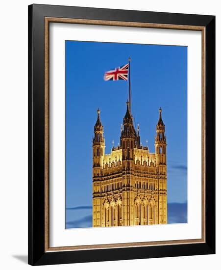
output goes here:
{"type": "Polygon", "coordinates": [[[168,203],[168,223],[187,223],[187,202],[168,203]]]}

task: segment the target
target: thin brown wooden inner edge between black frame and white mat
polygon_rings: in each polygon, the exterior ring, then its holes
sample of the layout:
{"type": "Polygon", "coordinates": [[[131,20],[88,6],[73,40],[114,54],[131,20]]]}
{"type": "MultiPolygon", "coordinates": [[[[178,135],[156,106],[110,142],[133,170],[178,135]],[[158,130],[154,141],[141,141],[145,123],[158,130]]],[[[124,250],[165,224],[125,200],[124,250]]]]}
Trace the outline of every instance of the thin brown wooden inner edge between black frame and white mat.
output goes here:
{"type": "Polygon", "coordinates": [[[160,246],[205,243],[205,28],[201,26],[184,25],[164,25],[136,22],[119,22],[88,19],[69,19],[45,17],[45,252],[70,251],[70,250],[89,250],[103,248],[123,248],[123,247],[141,247],[141,246],[160,246]],[[95,244],[95,245],[77,245],[77,246],[59,246],[49,247],[49,23],[71,23],[84,25],[103,25],[103,26],[122,26],[122,27],[144,27],[144,28],[162,28],[162,29],[181,29],[201,31],[201,81],[202,81],[202,237],[201,239],[174,240],[174,241],[156,241],[156,242],[138,242],[138,243],[113,243],[113,244],[95,244]]]}

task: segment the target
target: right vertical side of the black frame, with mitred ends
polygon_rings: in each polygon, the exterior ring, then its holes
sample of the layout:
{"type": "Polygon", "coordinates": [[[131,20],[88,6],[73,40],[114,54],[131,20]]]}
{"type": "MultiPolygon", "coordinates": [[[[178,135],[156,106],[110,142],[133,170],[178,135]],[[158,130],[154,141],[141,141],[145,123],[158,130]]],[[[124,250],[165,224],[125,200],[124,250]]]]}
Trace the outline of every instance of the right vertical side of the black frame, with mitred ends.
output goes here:
{"type": "Polygon", "coordinates": [[[206,26],[206,243],[215,253],[216,230],[216,18],[206,26]],[[209,184],[209,185],[208,185],[209,184]]]}

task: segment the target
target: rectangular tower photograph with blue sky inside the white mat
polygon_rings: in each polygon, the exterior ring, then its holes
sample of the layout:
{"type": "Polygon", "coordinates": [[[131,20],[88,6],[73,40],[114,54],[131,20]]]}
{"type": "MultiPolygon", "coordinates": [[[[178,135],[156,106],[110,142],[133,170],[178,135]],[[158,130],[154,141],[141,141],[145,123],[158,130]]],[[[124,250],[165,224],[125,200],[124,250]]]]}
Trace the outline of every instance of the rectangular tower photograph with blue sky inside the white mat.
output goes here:
{"type": "Polygon", "coordinates": [[[65,40],[65,228],[188,223],[187,46],[65,40]]]}

